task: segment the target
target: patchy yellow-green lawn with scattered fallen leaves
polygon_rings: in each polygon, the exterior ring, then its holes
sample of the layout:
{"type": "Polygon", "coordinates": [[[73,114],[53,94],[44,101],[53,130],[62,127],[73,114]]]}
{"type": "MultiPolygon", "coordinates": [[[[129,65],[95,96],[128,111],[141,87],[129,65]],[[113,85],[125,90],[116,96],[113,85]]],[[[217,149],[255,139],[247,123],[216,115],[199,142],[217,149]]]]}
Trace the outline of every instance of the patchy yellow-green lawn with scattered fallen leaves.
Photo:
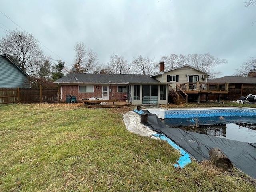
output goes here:
{"type": "Polygon", "coordinates": [[[174,168],[167,142],[130,133],[135,107],[0,106],[0,191],[255,191],[254,180],[211,162],[174,168]]]}

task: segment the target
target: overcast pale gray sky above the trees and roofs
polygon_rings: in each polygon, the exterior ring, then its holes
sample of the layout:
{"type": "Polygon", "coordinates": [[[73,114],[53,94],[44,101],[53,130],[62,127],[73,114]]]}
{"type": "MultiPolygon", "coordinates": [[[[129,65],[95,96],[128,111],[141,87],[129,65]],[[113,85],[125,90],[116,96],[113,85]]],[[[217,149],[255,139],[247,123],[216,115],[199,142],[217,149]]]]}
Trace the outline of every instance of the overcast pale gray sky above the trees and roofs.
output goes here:
{"type": "MultiPolygon", "coordinates": [[[[246,8],[244,1],[0,0],[0,11],[68,68],[75,43],[83,42],[98,54],[100,64],[113,53],[131,62],[140,54],[159,61],[170,54],[209,52],[228,60],[218,70],[231,76],[256,57],[256,5],[246,8]]],[[[21,30],[1,12],[1,37],[5,30],[21,30]]]]}

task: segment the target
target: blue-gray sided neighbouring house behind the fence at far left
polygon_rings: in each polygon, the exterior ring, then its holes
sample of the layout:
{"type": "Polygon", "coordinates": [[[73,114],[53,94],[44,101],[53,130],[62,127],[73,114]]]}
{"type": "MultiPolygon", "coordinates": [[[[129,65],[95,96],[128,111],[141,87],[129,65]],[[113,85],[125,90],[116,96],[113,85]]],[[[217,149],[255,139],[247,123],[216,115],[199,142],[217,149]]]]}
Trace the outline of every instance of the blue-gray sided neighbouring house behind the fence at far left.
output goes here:
{"type": "Polygon", "coordinates": [[[0,54],[0,88],[30,88],[28,78],[8,56],[0,54]]]}

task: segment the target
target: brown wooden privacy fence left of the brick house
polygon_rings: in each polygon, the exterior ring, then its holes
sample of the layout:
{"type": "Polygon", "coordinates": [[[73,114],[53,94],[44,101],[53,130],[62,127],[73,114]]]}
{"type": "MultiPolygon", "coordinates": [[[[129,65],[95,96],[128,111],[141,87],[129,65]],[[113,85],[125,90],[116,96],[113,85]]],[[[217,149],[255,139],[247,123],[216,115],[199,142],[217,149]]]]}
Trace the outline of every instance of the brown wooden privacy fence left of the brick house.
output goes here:
{"type": "Polygon", "coordinates": [[[58,89],[0,88],[0,104],[58,101],[58,89]]]}

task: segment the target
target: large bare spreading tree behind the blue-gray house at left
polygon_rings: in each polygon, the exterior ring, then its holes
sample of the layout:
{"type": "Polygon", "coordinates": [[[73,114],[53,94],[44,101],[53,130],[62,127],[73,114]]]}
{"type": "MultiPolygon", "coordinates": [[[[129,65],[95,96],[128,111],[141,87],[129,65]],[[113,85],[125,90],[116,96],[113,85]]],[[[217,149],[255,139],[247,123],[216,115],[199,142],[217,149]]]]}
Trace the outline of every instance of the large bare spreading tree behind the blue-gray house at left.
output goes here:
{"type": "Polygon", "coordinates": [[[0,52],[8,55],[22,70],[30,74],[35,65],[42,65],[46,58],[32,34],[13,30],[0,38],[0,52]]]}

